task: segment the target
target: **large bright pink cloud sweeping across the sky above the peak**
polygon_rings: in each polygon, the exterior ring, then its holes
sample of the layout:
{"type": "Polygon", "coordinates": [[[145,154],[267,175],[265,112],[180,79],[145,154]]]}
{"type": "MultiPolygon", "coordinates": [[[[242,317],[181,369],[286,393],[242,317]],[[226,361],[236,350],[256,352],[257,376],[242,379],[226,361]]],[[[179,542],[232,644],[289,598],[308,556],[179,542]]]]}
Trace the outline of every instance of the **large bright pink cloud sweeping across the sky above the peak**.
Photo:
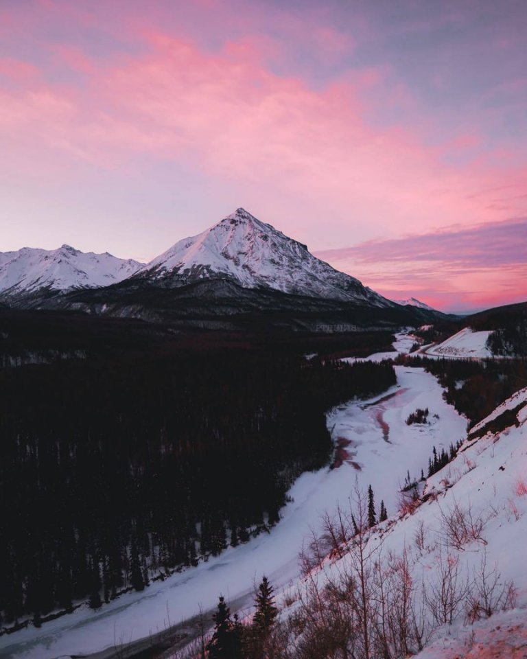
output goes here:
{"type": "MultiPolygon", "coordinates": [[[[49,3],[49,11],[56,6],[49,3]]],[[[141,48],[132,54],[95,59],[77,46],[52,45],[55,58],[82,71],[82,84],[35,75],[22,90],[1,92],[11,168],[58,178],[86,163],[115,171],[140,169],[147,157],[183,163],[214,181],[250,187],[272,211],[270,221],[319,246],[527,212],[522,149],[456,167],[445,153],[478,146],[476,130],[430,146],[422,126],[373,124],[375,106],[414,103],[405,85],[386,84],[389,67],[356,69],[314,89],[268,67],[281,48],[272,38],[245,36],[211,51],[148,24],[140,29],[141,48]],[[515,186],[511,203],[491,190],[501,185],[515,186]],[[285,196],[296,199],[296,216],[280,217],[285,196]]],[[[325,28],[319,37],[320,47],[353,47],[325,28]]]]}

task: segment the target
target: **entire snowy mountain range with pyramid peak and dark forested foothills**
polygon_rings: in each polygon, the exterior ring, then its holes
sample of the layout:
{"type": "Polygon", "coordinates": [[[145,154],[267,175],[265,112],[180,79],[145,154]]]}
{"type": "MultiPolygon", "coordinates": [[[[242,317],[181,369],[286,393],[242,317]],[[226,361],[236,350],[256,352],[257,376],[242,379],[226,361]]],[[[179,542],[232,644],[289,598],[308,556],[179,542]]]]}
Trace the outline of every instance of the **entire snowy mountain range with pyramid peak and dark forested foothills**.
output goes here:
{"type": "MultiPolygon", "coordinates": [[[[272,325],[324,331],[430,321],[428,305],[390,301],[239,208],[148,264],[108,253],[23,248],[0,254],[0,303],[230,327],[264,313],[272,325]],[[410,305],[411,308],[408,306],[410,305]],[[276,315],[278,314],[278,315],[276,315]]],[[[442,314],[440,314],[442,315],[442,314]]]]}

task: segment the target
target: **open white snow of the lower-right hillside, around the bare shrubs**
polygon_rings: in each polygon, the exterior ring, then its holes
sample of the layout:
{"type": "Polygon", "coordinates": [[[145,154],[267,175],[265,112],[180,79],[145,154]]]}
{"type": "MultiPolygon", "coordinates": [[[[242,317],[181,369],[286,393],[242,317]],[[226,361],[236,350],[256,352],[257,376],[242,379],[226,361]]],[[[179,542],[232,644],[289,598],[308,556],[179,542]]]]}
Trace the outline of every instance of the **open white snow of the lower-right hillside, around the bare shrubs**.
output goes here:
{"type": "MultiPolygon", "coordinates": [[[[455,605],[453,624],[434,629],[427,647],[417,655],[419,659],[527,656],[526,439],[527,388],[478,424],[454,460],[427,479],[425,502],[413,513],[379,524],[370,537],[366,553],[381,544],[384,557],[406,552],[410,566],[407,583],[417,584],[418,592],[421,583],[429,593],[434,592],[430,589],[441,584],[442,575],[452,566],[457,581],[447,583],[457,588],[456,592],[466,583],[480,604],[484,600],[477,588],[482,588],[483,574],[487,594],[495,583],[489,601],[496,601],[500,592],[508,592],[509,584],[515,588],[514,608],[501,612],[495,603],[489,618],[481,614],[473,624],[467,619],[467,600],[462,599],[455,605]],[[508,418],[508,427],[477,438],[478,428],[513,409],[517,410],[516,419],[508,418]]],[[[309,590],[312,583],[323,592],[329,579],[353,574],[352,565],[349,555],[327,557],[322,569],[290,588],[288,601],[298,600],[298,592],[309,590]]],[[[292,609],[295,607],[293,603],[292,609]]],[[[287,610],[282,615],[287,615],[287,610]]]]}

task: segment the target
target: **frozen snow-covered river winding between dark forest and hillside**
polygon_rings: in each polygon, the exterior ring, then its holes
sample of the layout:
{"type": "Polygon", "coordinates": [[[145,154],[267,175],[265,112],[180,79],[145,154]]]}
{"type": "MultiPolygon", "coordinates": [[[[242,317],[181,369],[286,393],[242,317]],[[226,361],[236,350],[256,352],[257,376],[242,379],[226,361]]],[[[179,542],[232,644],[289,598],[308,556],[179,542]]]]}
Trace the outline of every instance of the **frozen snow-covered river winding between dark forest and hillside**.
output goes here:
{"type": "MultiPolygon", "coordinates": [[[[397,337],[403,351],[412,339],[397,337]]],[[[394,353],[389,353],[394,356],[394,353]]],[[[380,356],[373,356],[379,359],[380,356]]],[[[69,616],[0,637],[0,657],[51,659],[88,654],[161,631],[218,601],[252,599],[253,581],[266,574],[277,591],[298,579],[298,552],[320,515],[338,502],[346,504],[355,485],[372,485],[377,506],[383,499],[388,515],[397,506],[397,491],[405,476],[426,471],[432,446],[448,448],[465,436],[466,420],[447,406],[434,376],[423,369],[397,367],[397,386],[369,401],[352,401],[332,411],[328,427],[333,438],[344,440],[342,465],[303,474],[290,491],[293,500],[281,511],[282,520],[269,534],[228,548],[208,562],[153,583],[141,593],[128,594],[98,612],[82,607],[69,616]],[[430,425],[407,426],[417,408],[428,407],[430,425]],[[437,415],[437,418],[433,415],[437,415]]],[[[243,605],[243,604],[242,604],[243,605]]]]}

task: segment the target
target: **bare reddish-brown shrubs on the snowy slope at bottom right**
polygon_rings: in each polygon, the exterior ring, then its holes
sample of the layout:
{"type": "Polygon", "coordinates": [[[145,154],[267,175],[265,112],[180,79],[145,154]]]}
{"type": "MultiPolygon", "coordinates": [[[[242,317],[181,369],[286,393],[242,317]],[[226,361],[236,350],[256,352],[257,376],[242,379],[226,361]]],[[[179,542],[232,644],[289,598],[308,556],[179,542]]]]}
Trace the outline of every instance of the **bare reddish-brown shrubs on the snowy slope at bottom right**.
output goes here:
{"type": "MultiPolygon", "coordinates": [[[[342,519],[349,520],[350,530],[354,527],[342,555],[333,553],[323,571],[318,566],[305,574],[298,596],[288,601],[294,612],[273,617],[258,651],[242,644],[241,658],[406,659],[421,651],[442,625],[462,618],[473,623],[516,605],[514,583],[502,580],[497,564],[488,565],[486,551],[471,571],[463,562],[466,542],[481,540],[482,527],[471,509],[454,501],[452,510],[442,513],[443,542],[432,573],[420,581],[415,574],[418,559],[410,548],[385,551],[382,537],[370,528],[368,499],[355,489],[353,509],[325,516],[326,527],[333,525],[327,529],[332,537],[347,535],[341,531],[342,519]],[[450,542],[453,527],[459,525],[469,529],[467,537],[450,542]]],[[[425,548],[434,551],[428,535],[421,522],[415,535],[419,555],[425,548]]],[[[256,618],[245,622],[242,638],[251,638],[256,618]]],[[[187,655],[198,657],[196,652],[187,655]]]]}

